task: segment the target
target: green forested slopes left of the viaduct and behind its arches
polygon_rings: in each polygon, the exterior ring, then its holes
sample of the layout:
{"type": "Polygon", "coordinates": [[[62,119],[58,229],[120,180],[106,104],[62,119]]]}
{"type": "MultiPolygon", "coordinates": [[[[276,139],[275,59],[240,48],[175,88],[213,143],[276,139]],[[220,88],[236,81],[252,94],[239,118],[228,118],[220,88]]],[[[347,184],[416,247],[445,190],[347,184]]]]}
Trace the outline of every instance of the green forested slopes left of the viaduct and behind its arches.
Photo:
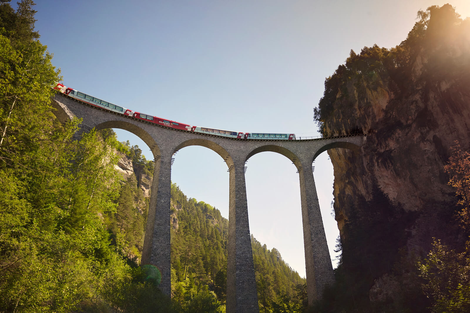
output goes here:
{"type": "MultiPolygon", "coordinates": [[[[80,120],[57,121],[51,86],[61,76],[34,31],[34,3],[15,11],[8,2],[0,1],[0,312],[224,312],[227,219],[172,185],[173,297],[161,295],[139,266],[153,163],[112,130],[75,140],[80,120]]],[[[261,310],[302,312],[305,280],[276,249],[252,244],[261,310]]]]}

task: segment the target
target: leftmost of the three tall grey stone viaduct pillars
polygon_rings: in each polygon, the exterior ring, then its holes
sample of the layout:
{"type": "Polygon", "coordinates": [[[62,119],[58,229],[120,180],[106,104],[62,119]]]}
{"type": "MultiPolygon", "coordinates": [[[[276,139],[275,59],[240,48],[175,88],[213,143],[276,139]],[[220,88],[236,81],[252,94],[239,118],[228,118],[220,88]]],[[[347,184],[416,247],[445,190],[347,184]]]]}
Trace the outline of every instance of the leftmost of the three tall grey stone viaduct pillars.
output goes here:
{"type": "Polygon", "coordinates": [[[155,157],[149,214],[145,229],[141,266],[157,282],[164,295],[171,295],[170,197],[171,154],[155,157]]]}

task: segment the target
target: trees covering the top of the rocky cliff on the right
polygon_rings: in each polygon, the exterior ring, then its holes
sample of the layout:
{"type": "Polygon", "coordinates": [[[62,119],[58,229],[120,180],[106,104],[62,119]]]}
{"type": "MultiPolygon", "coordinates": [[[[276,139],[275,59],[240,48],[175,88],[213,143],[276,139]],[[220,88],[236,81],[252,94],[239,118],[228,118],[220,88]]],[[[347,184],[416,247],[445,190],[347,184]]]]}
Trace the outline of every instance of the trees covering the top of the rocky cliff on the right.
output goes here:
{"type": "MultiPolygon", "coordinates": [[[[407,38],[398,46],[390,49],[377,45],[364,47],[359,54],[351,50],[345,64],[339,65],[333,75],[325,79],[323,97],[318,107],[313,109],[313,120],[317,123],[322,135],[331,135],[327,133],[325,122],[331,120],[339,103],[342,106],[352,105],[356,99],[363,100],[364,105],[367,105],[365,99],[367,90],[377,90],[378,87],[384,87],[384,84],[390,82],[392,82],[391,89],[396,90],[397,93],[407,94],[409,88],[414,87],[411,72],[417,54],[424,47],[436,46],[436,43],[445,46],[445,38],[449,33],[458,33],[455,30],[449,30],[451,26],[459,26],[462,33],[468,32],[469,21],[462,21],[459,18],[460,15],[454,10],[447,10],[448,14],[441,17],[441,22],[429,25],[431,12],[437,9],[439,6],[431,6],[425,11],[418,11],[418,21],[409,31],[407,38]],[[345,101],[341,102],[342,100],[345,101]]],[[[356,125],[356,128],[361,129],[361,125],[356,125]]]]}

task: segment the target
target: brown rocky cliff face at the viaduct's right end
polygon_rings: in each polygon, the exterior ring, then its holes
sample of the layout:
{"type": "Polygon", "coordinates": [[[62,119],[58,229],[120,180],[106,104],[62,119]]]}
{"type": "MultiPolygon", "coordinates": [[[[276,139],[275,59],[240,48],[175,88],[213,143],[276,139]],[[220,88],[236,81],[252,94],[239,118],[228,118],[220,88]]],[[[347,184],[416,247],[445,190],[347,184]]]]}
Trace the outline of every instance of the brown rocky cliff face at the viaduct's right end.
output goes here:
{"type": "Polygon", "coordinates": [[[413,49],[405,42],[397,46],[410,51],[406,66],[397,59],[398,65],[368,71],[350,64],[348,73],[360,75],[343,80],[331,113],[320,121],[325,134],[357,128],[367,134],[360,153],[328,151],[341,234],[352,210],[360,211],[358,199],[370,199],[376,183],[394,204],[416,213],[412,227],[397,229],[409,232],[408,250],[428,251],[431,237],[455,236],[439,214],[455,206],[443,170],[449,147],[458,140],[470,148],[470,20],[444,5],[430,10],[423,27],[413,49]]]}

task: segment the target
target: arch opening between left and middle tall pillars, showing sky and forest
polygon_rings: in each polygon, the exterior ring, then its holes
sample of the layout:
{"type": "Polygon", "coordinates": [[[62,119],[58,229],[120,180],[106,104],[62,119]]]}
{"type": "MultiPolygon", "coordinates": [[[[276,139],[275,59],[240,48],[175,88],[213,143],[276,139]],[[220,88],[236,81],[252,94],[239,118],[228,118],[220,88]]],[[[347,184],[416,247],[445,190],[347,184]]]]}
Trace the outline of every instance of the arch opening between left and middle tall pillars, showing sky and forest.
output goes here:
{"type": "Polygon", "coordinates": [[[194,279],[196,285],[203,283],[199,278],[203,271],[201,277],[207,275],[207,283],[213,284],[219,300],[225,300],[222,290],[227,276],[224,251],[228,240],[230,161],[224,164],[223,156],[228,155],[225,149],[207,145],[207,140],[188,140],[178,145],[173,154],[172,197],[184,193],[186,198],[173,199],[171,207],[172,285],[189,280],[194,283],[194,279]],[[189,212],[192,221],[188,220],[189,212]],[[194,244],[182,244],[184,237],[192,238],[188,240],[194,244]]]}

